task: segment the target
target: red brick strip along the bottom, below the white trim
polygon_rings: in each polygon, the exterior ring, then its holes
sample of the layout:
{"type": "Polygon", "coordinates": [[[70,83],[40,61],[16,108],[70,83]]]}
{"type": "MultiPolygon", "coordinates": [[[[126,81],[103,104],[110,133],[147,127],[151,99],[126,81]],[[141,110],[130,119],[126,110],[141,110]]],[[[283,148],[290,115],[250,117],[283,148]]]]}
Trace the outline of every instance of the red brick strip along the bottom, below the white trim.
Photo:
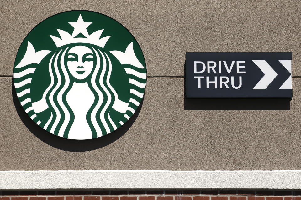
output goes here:
{"type": "Polygon", "coordinates": [[[0,200],[301,200],[301,191],[272,191],[272,190],[0,191],[0,200]]]}

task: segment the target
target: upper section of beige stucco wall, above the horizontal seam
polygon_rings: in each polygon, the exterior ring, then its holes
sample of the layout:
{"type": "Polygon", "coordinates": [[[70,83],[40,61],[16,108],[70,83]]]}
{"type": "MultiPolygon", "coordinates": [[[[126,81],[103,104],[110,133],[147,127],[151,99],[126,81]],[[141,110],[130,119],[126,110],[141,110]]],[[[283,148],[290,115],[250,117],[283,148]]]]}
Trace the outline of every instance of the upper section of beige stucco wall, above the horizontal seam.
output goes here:
{"type": "Polygon", "coordinates": [[[0,69],[12,75],[21,42],[39,22],[86,9],[114,18],[134,35],[150,76],[183,76],[185,52],[260,51],[293,52],[293,76],[300,76],[300,7],[298,0],[2,0],[0,69]]]}

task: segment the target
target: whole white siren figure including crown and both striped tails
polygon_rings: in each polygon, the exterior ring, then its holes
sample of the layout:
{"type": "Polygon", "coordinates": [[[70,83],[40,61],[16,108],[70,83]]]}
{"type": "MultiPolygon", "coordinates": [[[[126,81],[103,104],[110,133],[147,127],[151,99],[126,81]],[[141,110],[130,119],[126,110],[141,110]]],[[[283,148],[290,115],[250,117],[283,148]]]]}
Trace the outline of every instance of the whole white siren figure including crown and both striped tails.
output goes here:
{"type": "MultiPolygon", "coordinates": [[[[38,113],[49,113],[47,120],[44,118],[43,122],[36,122],[48,132],[69,139],[97,138],[113,132],[130,118],[135,112],[133,107],[137,107],[140,104],[138,101],[143,97],[143,93],[137,90],[145,89],[143,82],[146,80],[146,73],[124,68],[125,74],[130,75],[128,80],[131,87],[138,89],[129,90],[128,102],[121,101],[110,84],[112,62],[108,55],[114,55],[121,64],[128,64],[143,71],[145,67],[135,56],[133,42],[125,52],[110,51],[109,54],[103,47],[110,36],[101,37],[103,30],[89,35],[87,27],[92,22],[84,22],[81,15],[77,22],[69,23],[74,27],[72,35],[57,29],[60,38],[50,36],[57,47],[55,51],[36,52],[28,42],[26,53],[15,68],[22,68],[31,63],[39,64],[50,54],[48,66],[43,66],[49,70],[50,84],[39,101],[31,102],[30,98],[26,98],[30,93],[29,88],[17,95],[18,98],[24,99],[20,101],[22,106],[31,103],[31,107],[24,109],[26,113],[34,112],[32,119],[36,119],[38,113]],[[79,34],[84,37],[78,37],[79,34]],[[121,117],[116,117],[119,115],[121,117]]],[[[35,68],[28,68],[14,73],[14,80],[21,80],[20,83],[15,83],[15,87],[31,83],[32,78],[28,78],[27,75],[33,74],[34,71],[35,68]],[[24,79],[25,77],[27,79],[24,79]]]]}

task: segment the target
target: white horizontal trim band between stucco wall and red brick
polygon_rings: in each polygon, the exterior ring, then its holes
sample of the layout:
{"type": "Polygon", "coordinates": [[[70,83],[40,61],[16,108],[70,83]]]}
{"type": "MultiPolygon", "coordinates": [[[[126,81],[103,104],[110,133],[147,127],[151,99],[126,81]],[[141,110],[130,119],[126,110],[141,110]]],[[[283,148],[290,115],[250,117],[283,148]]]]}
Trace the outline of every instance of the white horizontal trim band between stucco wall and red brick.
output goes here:
{"type": "Polygon", "coordinates": [[[301,189],[301,170],[0,171],[0,189],[301,189]]]}

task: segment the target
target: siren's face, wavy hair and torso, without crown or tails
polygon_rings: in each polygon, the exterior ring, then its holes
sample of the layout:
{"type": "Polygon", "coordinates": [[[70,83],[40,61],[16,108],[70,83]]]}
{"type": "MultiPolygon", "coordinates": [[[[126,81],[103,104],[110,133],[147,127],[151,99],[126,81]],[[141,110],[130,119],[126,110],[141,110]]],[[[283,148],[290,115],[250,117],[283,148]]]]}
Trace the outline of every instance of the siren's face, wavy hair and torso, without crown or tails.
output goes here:
{"type": "Polygon", "coordinates": [[[54,53],[51,83],[43,95],[51,105],[44,129],[71,139],[95,138],[116,129],[108,110],[116,93],[109,83],[111,71],[110,58],[100,49],[80,45],[54,53]]]}

